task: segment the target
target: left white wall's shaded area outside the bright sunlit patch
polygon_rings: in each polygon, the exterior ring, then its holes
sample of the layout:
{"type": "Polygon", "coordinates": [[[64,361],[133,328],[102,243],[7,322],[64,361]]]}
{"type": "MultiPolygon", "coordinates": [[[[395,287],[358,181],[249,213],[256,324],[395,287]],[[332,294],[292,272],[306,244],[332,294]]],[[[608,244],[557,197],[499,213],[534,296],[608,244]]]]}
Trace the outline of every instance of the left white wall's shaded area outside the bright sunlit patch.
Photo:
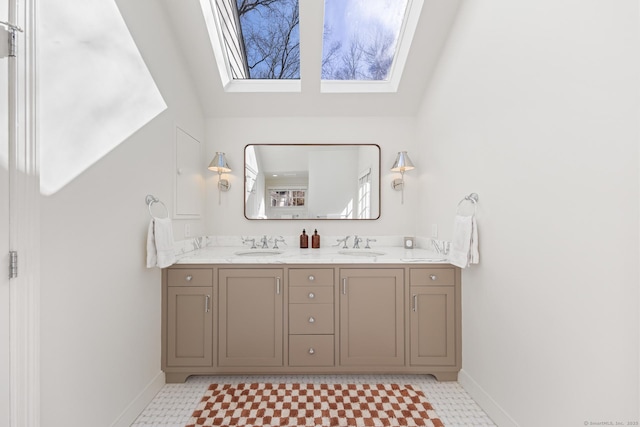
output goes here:
{"type": "MultiPolygon", "coordinates": [[[[118,6],[168,109],[42,198],[43,427],[129,425],[164,383],[160,271],[145,268],[144,198],[173,211],[175,126],[203,141],[204,123],[158,3],[118,6]]],[[[202,234],[202,221],[191,222],[202,234]]]]}

